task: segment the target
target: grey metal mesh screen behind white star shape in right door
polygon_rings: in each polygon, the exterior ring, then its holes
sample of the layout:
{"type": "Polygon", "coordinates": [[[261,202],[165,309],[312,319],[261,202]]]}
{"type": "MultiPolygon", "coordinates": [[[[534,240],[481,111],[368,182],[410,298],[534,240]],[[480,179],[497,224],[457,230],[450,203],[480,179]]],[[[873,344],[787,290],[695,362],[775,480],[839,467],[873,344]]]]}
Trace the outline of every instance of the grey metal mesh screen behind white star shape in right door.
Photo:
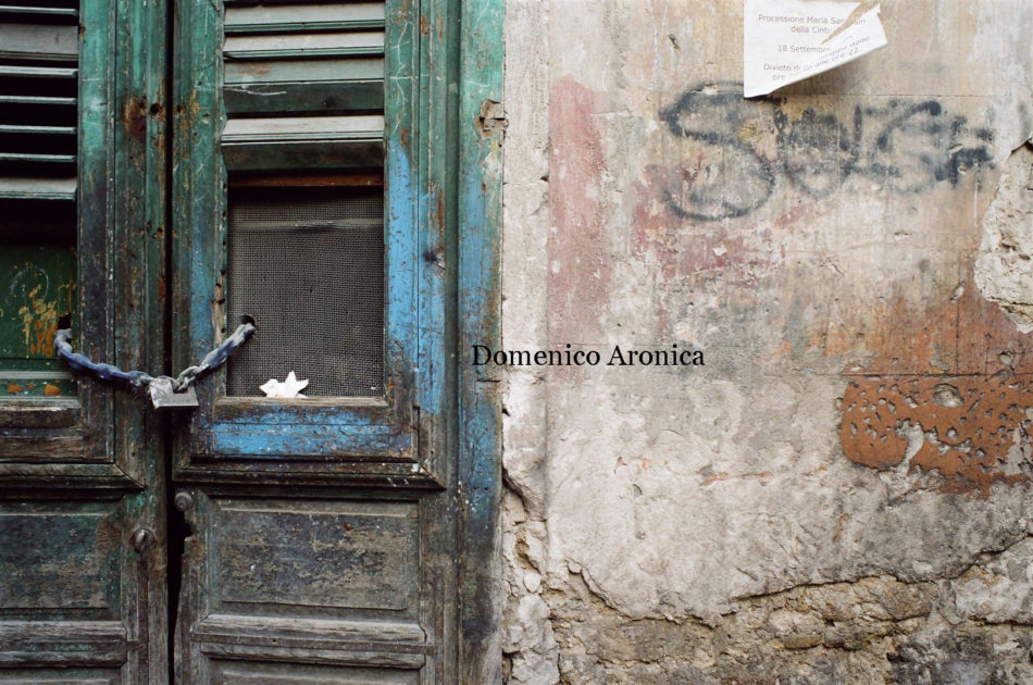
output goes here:
{"type": "Polygon", "coordinates": [[[381,190],[234,189],[227,308],[257,332],[229,360],[227,394],[294,371],[309,397],[373,397],[384,385],[381,190]]]}

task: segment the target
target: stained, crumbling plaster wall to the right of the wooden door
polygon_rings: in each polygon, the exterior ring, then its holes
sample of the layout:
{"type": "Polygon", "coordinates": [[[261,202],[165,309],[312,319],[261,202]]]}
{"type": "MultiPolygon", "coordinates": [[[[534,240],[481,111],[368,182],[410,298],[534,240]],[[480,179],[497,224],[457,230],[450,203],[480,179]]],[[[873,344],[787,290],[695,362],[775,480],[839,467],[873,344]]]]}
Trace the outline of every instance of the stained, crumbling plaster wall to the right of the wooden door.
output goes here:
{"type": "Polygon", "coordinates": [[[507,1],[503,347],[602,358],[498,370],[509,682],[1033,682],[1033,5],[882,21],[507,1]]]}

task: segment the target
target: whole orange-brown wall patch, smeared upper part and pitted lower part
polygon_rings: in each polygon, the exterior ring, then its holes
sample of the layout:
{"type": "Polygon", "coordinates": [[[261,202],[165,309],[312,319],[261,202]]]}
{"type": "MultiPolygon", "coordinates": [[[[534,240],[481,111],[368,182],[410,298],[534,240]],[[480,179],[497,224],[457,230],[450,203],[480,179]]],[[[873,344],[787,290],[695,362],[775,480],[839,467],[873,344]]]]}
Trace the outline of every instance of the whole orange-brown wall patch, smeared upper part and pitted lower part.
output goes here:
{"type": "Polygon", "coordinates": [[[943,493],[1029,484],[1033,336],[979,297],[971,277],[945,284],[932,303],[909,300],[900,294],[808,341],[849,370],[839,407],[847,459],[928,475],[943,493]]]}

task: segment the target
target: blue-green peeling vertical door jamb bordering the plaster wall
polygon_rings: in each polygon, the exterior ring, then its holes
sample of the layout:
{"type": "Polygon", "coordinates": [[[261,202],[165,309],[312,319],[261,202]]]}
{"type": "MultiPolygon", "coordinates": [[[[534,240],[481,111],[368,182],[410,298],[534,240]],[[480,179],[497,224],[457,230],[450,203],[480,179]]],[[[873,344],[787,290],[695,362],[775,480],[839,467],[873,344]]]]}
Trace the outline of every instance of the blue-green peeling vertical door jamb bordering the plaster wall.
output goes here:
{"type": "MultiPolygon", "coordinates": [[[[461,0],[459,350],[497,347],[501,310],[502,15],[498,0],[461,0]]],[[[498,379],[460,362],[460,682],[501,681],[498,379]]]]}

